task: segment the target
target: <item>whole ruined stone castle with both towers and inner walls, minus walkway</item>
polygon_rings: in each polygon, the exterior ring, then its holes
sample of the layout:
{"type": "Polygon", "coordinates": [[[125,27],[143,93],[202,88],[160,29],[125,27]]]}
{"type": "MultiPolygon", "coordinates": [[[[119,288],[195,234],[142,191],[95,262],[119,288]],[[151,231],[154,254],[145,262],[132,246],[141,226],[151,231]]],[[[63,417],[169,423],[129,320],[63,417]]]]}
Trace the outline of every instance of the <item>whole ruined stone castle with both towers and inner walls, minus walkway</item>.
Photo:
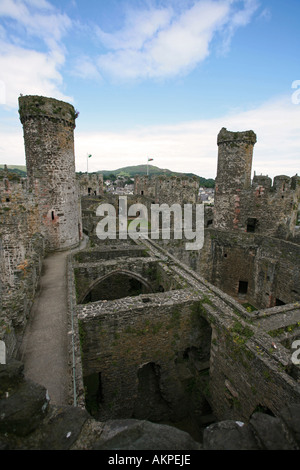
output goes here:
{"type": "MultiPolygon", "coordinates": [[[[101,178],[76,178],[74,108],[35,96],[19,105],[27,178],[0,180],[8,359],[18,358],[43,260],[65,250],[70,403],[100,421],[171,423],[195,439],[210,422],[299,404],[300,178],[251,180],[255,133],[223,128],[201,250],[174,237],[99,240],[97,207],[117,210],[118,200],[101,178]]],[[[193,179],[137,177],[128,205],[197,196],[193,179]]]]}

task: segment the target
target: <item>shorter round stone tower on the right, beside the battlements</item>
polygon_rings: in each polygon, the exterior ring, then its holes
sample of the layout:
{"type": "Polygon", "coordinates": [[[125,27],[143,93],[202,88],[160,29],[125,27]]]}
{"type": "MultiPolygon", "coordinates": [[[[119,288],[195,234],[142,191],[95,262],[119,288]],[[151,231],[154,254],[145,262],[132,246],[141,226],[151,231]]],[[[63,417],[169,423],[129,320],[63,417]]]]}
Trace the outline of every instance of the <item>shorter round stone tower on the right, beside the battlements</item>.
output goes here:
{"type": "Polygon", "coordinates": [[[251,169],[256,134],[253,131],[218,135],[218,168],[215,186],[214,227],[240,228],[240,203],[243,192],[251,188],[251,169]]]}

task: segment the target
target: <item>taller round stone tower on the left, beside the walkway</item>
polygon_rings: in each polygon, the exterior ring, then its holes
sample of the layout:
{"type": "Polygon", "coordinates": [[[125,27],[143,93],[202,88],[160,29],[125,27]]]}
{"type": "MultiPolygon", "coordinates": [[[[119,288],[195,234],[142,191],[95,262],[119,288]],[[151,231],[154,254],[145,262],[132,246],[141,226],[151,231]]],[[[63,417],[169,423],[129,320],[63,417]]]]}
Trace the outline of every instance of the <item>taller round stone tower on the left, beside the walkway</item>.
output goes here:
{"type": "Polygon", "coordinates": [[[48,251],[79,243],[80,210],[75,174],[72,105],[53,98],[21,96],[29,191],[39,208],[48,251]]]}

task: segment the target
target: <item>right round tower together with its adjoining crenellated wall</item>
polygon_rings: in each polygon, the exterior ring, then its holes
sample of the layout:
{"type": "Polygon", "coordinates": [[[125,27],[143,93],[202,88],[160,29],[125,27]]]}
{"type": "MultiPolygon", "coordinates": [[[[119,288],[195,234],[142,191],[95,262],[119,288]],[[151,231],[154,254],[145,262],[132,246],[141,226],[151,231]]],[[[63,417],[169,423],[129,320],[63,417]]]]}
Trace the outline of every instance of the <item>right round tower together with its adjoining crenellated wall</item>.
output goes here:
{"type": "Polygon", "coordinates": [[[251,184],[253,131],[218,135],[218,171],[213,226],[292,239],[296,235],[300,178],[254,176],[251,184]]]}

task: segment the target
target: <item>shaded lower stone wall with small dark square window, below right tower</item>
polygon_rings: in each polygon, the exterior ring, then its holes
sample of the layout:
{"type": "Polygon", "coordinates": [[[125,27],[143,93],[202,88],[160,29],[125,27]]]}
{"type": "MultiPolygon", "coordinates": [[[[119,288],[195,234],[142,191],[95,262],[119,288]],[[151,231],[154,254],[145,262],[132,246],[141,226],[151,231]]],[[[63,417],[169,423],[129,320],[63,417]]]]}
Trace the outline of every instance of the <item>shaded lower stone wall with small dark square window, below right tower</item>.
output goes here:
{"type": "Polygon", "coordinates": [[[299,245],[238,231],[205,230],[199,251],[185,250],[185,240],[157,240],[175,258],[241,303],[273,307],[300,300],[299,245]],[[247,283],[243,292],[240,281],[247,283]]]}

